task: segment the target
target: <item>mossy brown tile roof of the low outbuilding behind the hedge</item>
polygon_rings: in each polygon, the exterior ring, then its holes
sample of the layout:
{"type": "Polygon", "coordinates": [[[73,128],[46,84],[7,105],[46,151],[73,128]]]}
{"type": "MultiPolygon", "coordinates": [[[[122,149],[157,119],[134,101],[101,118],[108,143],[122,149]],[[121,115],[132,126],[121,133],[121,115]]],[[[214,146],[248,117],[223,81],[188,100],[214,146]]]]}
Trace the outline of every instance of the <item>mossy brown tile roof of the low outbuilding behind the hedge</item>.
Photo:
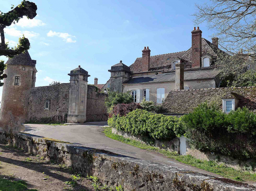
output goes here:
{"type": "Polygon", "coordinates": [[[198,104],[215,102],[222,109],[222,99],[237,98],[237,107],[247,106],[256,112],[256,87],[208,88],[196,90],[170,90],[163,104],[161,113],[189,113],[198,104]]]}

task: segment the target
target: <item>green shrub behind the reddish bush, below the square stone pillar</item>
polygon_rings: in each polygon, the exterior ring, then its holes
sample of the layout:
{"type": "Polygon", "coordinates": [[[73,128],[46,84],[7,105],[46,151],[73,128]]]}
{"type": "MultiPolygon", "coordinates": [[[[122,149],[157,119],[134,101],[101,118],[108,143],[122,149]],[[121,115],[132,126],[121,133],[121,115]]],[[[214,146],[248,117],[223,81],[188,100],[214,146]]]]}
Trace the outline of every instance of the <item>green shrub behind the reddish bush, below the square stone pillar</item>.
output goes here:
{"type": "Polygon", "coordinates": [[[126,93],[120,93],[116,91],[109,91],[108,97],[105,98],[105,105],[108,109],[108,112],[111,112],[110,108],[112,108],[114,105],[119,103],[132,103],[133,98],[130,94],[130,91],[127,91],[126,93]]]}

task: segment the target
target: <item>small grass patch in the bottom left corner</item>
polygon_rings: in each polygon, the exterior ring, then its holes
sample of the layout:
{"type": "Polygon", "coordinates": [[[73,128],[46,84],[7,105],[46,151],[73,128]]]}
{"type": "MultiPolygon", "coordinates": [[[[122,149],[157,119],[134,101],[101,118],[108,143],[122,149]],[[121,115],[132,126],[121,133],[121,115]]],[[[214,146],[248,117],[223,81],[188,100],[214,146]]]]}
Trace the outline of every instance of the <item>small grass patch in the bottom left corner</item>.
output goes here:
{"type": "Polygon", "coordinates": [[[38,191],[35,189],[28,189],[27,183],[24,181],[10,181],[0,178],[0,190],[1,191],[38,191]]]}

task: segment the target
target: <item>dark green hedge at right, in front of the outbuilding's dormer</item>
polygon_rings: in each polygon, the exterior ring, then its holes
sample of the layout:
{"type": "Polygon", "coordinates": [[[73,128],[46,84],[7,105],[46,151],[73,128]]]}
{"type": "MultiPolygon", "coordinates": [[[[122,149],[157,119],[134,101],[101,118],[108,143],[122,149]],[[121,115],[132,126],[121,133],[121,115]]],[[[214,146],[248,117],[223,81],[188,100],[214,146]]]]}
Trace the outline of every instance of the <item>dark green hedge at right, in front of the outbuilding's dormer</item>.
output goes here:
{"type": "Polygon", "coordinates": [[[256,115],[248,108],[225,114],[215,104],[202,103],[183,120],[192,148],[240,159],[256,157],[256,115]]]}

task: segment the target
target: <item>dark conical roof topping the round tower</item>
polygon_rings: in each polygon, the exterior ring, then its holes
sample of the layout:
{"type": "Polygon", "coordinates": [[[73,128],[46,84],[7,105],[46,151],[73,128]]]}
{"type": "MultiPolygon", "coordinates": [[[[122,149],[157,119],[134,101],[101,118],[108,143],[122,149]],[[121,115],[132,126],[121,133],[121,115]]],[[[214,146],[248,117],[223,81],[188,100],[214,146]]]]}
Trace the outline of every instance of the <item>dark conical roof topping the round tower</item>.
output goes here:
{"type": "Polygon", "coordinates": [[[32,60],[28,51],[15,55],[14,58],[9,58],[6,62],[7,65],[22,65],[22,66],[35,66],[36,60],[32,60]]]}

